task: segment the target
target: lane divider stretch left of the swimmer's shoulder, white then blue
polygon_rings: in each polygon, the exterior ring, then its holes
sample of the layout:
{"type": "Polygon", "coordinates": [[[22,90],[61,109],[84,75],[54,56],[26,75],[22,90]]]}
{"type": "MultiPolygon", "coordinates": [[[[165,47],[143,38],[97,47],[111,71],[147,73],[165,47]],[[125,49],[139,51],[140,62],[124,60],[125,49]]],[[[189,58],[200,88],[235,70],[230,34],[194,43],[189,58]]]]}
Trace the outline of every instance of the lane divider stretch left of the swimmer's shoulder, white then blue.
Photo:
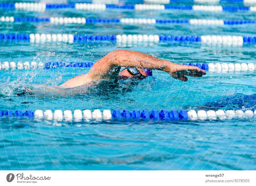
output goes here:
{"type": "Polygon", "coordinates": [[[36,69],[50,69],[50,68],[57,68],[57,67],[92,67],[92,62],[39,62],[32,61],[29,63],[28,61],[22,63],[22,62],[8,62],[4,61],[2,64],[0,64],[0,70],[5,71],[13,71],[13,70],[36,70],[36,69]]]}

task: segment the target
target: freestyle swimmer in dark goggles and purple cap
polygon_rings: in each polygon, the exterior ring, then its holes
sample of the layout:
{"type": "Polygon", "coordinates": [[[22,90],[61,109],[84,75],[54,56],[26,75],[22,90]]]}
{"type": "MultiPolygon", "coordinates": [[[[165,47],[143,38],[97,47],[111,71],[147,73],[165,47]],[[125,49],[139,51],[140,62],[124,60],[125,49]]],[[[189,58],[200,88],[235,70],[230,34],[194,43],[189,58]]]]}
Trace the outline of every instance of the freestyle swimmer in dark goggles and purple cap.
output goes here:
{"type": "Polygon", "coordinates": [[[143,79],[151,75],[151,69],[165,71],[172,78],[181,81],[187,81],[186,76],[202,77],[206,74],[204,70],[195,66],[179,65],[131,50],[114,50],[94,63],[89,72],[71,78],[59,87],[89,85],[95,80],[143,79]],[[121,67],[125,69],[120,72],[121,67]]]}

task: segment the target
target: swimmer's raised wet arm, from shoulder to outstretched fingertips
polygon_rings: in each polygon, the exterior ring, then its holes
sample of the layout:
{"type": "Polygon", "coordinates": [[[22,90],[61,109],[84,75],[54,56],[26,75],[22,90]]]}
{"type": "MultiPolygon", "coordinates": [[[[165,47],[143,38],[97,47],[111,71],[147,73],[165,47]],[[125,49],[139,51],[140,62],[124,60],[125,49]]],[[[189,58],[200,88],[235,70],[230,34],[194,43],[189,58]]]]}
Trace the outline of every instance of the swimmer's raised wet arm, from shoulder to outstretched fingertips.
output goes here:
{"type": "Polygon", "coordinates": [[[198,67],[179,65],[141,52],[131,50],[114,50],[93,65],[91,73],[94,78],[116,78],[120,67],[137,67],[156,69],[169,73],[173,78],[187,81],[185,75],[202,77],[206,72],[198,67]]]}

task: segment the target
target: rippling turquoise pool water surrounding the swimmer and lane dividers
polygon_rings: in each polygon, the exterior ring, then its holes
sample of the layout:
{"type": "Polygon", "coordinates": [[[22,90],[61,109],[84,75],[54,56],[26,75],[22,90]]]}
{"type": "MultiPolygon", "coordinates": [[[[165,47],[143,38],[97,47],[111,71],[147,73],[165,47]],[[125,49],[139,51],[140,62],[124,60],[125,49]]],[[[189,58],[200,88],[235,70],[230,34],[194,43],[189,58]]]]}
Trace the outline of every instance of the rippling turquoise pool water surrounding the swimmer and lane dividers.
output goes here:
{"type": "MultiPolygon", "coordinates": [[[[232,5],[232,4],[231,4],[232,5]]],[[[7,11],[1,16],[54,17],[63,10],[45,12],[7,11]]],[[[254,20],[249,11],[76,11],[63,17],[227,19],[254,20]],[[191,16],[190,16],[191,15],[191,16]]],[[[255,25],[189,26],[50,23],[3,23],[0,33],[100,33],[253,36],[255,25]]],[[[254,45],[243,47],[195,43],[116,45],[115,43],[19,43],[1,41],[1,61],[96,62],[114,49],[144,52],[177,63],[255,63],[254,45]]],[[[203,78],[181,82],[167,73],[153,71],[140,82],[67,89],[56,88],[88,68],[34,71],[0,71],[0,109],[251,109],[256,107],[256,74],[207,73],[203,78]],[[40,84],[43,86],[35,86],[40,84]],[[18,96],[25,87],[33,95],[18,96]]],[[[45,122],[24,117],[0,120],[0,168],[2,170],[255,170],[254,120],[168,122],[111,120],[99,123],[45,122]]]]}

